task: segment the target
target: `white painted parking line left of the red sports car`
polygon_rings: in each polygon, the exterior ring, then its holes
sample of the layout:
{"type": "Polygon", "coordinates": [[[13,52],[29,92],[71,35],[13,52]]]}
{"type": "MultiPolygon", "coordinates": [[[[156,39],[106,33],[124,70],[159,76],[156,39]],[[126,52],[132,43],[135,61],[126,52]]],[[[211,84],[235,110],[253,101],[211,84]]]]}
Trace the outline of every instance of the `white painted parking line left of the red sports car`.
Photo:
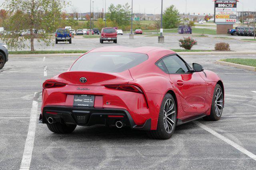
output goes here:
{"type": "MultiPolygon", "coordinates": [[[[35,93],[36,94],[36,93],[35,93]]],[[[30,111],[30,122],[28,127],[28,135],[24,147],[24,152],[22,156],[22,161],[20,164],[20,169],[29,169],[30,162],[32,159],[32,152],[34,148],[34,139],[36,133],[36,122],[37,122],[37,108],[38,102],[33,101],[32,108],[30,111]]]]}

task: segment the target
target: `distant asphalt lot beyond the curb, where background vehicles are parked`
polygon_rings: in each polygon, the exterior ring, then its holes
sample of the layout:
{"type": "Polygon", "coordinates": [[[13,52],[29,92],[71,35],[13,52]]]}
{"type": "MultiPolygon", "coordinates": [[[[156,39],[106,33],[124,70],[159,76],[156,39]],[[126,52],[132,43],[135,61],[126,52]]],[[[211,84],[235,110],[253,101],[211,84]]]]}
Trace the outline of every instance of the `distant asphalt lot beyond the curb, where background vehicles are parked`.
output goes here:
{"type": "MultiPolygon", "coordinates": [[[[86,35],[85,35],[86,36],[86,35]]],[[[96,35],[97,36],[97,35],[96,35]]],[[[100,38],[83,38],[82,36],[76,36],[72,38],[72,44],[67,42],[59,42],[58,44],[53,44],[53,46],[46,46],[44,43],[38,43],[34,41],[35,50],[90,50],[97,47],[106,46],[127,46],[127,47],[141,47],[141,46],[154,46],[154,47],[164,47],[166,49],[180,49],[179,39],[183,37],[192,37],[198,42],[198,45],[193,46],[192,49],[200,50],[214,50],[214,45],[216,43],[224,42],[230,44],[230,49],[232,51],[250,51],[254,50],[255,42],[245,42],[239,39],[253,37],[244,36],[232,36],[232,35],[208,35],[209,37],[193,37],[193,35],[179,35],[177,33],[165,33],[164,35],[165,43],[158,43],[158,37],[152,36],[150,33],[145,35],[134,35],[134,39],[129,39],[129,34],[118,35],[117,44],[113,42],[104,41],[103,44],[100,43],[100,38]],[[228,37],[231,39],[220,39],[214,37],[228,37]]],[[[55,39],[52,39],[52,43],[55,43],[55,39]]],[[[13,50],[13,49],[10,49],[13,50]]],[[[23,50],[30,50],[29,42],[27,41],[26,47],[23,50]]]]}

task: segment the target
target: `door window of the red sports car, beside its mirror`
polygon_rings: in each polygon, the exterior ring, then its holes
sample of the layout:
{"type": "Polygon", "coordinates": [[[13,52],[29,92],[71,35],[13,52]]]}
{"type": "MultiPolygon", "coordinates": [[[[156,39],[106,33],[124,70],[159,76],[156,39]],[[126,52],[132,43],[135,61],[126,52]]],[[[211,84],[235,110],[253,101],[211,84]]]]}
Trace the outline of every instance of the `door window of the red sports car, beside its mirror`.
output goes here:
{"type": "Polygon", "coordinates": [[[186,64],[176,55],[171,55],[162,59],[169,74],[188,72],[186,64]]]}

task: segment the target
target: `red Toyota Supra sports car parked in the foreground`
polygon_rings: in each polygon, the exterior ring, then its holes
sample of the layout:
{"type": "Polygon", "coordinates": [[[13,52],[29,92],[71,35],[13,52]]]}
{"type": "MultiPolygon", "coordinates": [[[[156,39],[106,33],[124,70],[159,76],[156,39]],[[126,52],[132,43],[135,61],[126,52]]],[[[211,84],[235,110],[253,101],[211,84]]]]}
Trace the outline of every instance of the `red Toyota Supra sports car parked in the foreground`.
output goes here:
{"type": "Polygon", "coordinates": [[[102,47],[43,83],[39,121],[54,133],[101,124],[169,139],[176,125],[220,119],[223,106],[220,78],[200,64],[191,68],[174,51],[102,47]]]}

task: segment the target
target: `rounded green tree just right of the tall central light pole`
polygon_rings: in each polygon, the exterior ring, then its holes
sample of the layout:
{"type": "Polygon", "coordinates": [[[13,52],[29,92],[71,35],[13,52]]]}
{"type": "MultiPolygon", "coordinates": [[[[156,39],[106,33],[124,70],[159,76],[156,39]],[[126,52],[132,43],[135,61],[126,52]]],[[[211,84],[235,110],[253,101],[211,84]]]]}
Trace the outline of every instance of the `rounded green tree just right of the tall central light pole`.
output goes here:
{"type": "Polygon", "coordinates": [[[179,23],[180,23],[179,12],[174,7],[174,5],[166,8],[163,14],[163,27],[176,28],[179,23]]]}

